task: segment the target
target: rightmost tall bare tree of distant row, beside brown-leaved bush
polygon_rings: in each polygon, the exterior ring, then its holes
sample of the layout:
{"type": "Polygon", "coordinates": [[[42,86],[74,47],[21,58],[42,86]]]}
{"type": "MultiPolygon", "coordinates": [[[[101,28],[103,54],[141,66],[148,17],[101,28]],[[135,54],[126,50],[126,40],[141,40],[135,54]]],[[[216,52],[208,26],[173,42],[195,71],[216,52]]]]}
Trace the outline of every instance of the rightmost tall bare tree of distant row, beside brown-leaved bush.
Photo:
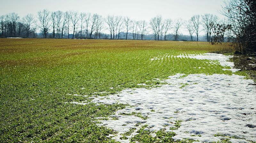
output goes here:
{"type": "Polygon", "coordinates": [[[207,38],[207,42],[210,41],[211,39],[211,28],[210,28],[210,23],[214,22],[216,23],[218,20],[218,17],[216,15],[212,15],[212,14],[204,14],[202,15],[202,26],[204,28],[204,32],[206,33],[206,38],[207,38]]]}

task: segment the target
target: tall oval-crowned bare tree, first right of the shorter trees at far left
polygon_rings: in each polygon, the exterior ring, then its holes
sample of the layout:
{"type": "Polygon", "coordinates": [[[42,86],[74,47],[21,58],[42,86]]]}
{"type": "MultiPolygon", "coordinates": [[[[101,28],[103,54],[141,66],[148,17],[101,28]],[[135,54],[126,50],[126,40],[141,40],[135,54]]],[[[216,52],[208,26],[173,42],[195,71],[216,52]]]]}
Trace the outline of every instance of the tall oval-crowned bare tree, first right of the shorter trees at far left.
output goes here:
{"type": "Polygon", "coordinates": [[[47,38],[47,33],[51,26],[50,12],[48,10],[44,9],[43,11],[39,11],[37,13],[37,15],[38,15],[38,20],[40,22],[39,28],[41,28],[43,30],[44,38],[47,38]]]}

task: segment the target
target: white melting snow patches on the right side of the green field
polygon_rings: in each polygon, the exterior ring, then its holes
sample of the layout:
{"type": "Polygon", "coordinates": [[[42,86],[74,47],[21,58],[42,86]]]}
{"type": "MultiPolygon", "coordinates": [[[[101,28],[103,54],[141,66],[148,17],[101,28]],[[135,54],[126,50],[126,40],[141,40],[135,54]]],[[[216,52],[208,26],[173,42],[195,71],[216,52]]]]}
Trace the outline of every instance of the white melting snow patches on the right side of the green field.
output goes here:
{"type": "MultiPolygon", "coordinates": [[[[222,66],[231,67],[224,70],[237,70],[232,69],[232,62],[227,62],[232,56],[206,53],[173,57],[218,60],[222,66]]],[[[214,61],[209,64],[214,64],[214,61]]],[[[240,138],[230,139],[231,142],[256,141],[256,89],[255,86],[249,85],[253,80],[245,80],[244,76],[234,74],[181,76],[182,74],[169,76],[165,81],[168,84],[158,88],[125,89],[115,95],[94,98],[92,101],[98,104],[124,103],[132,106],[118,110],[115,115],[110,116],[117,117],[118,120],[102,120],[99,125],[118,131],[117,136],[109,137],[120,142],[129,142],[129,139],[137,134],[136,130],[145,124],[150,131],[174,131],[177,134],[173,137],[175,140],[190,138],[200,142],[213,142],[222,138],[215,137],[214,134],[221,133],[240,138]],[[120,115],[132,112],[148,118],[143,120],[134,115],[120,115]],[[170,130],[176,120],[182,120],[180,128],[170,130]],[[136,123],[141,125],[136,126],[136,123]],[[128,139],[121,140],[122,133],[130,128],[136,130],[127,136],[128,139]]]]}

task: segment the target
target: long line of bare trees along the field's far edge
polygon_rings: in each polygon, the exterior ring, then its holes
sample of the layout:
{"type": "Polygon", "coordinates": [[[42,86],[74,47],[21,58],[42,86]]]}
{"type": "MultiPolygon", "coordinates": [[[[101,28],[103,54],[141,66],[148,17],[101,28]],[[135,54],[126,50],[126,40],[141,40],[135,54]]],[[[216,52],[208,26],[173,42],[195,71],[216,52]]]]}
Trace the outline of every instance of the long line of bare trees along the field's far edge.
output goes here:
{"type": "Polygon", "coordinates": [[[36,31],[40,30],[43,38],[120,39],[120,33],[123,32],[126,33],[124,39],[128,39],[128,34],[132,35],[130,39],[133,40],[143,40],[145,35],[153,34],[155,40],[167,40],[168,33],[172,33],[173,39],[178,40],[180,28],[184,26],[191,41],[194,40],[193,35],[198,41],[199,33],[204,32],[206,41],[209,42],[213,29],[211,24],[218,22],[219,18],[212,14],[195,15],[187,21],[182,19],[173,21],[157,15],[147,22],[132,20],[124,16],[108,15],[104,18],[97,13],[50,12],[44,9],[37,12],[36,16],[28,14],[23,18],[20,18],[17,13],[2,15],[0,16],[0,30],[2,37],[36,37],[36,31]],[[104,30],[108,30],[109,34],[103,33],[104,30]]]}

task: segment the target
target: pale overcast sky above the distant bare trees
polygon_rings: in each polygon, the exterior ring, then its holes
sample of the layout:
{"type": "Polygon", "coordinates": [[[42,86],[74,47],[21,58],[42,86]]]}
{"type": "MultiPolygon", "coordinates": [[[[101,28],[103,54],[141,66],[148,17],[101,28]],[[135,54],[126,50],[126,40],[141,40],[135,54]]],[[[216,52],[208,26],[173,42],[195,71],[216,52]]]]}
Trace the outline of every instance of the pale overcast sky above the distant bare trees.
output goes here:
{"type": "MultiPolygon", "coordinates": [[[[188,20],[196,14],[211,13],[224,18],[219,11],[224,0],[1,0],[0,15],[16,12],[20,17],[37,15],[43,9],[98,13],[102,16],[129,16],[149,21],[156,15],[172,20],[188,20]]],[[[187,34],[187,33],[184,33],[187,34]]]]}

